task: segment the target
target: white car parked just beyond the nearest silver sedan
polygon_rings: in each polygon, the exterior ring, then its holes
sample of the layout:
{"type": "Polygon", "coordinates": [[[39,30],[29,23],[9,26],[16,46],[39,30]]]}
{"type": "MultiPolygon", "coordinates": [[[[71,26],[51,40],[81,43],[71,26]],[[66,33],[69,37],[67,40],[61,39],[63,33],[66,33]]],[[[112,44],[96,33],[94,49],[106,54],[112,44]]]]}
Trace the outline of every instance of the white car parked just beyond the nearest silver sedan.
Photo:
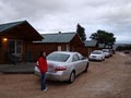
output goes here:
{"type": "Polygon", "coordinates": [[[102,50],[94,50],[90,54],[90,60],[103,61],[105,60],[105,53],[102,50]]]}

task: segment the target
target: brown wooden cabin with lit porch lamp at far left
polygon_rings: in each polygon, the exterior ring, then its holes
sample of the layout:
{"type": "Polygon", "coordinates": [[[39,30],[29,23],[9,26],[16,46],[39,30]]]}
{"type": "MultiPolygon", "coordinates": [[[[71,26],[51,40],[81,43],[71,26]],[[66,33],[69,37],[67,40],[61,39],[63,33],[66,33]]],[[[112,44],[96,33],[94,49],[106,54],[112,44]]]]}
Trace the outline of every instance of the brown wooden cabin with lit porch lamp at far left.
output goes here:
{"type": "Polygon", "coordinates": [[[27,22],[20,21],[0,25],[0,63],[9,62],[9,54],[23,61],[27,45],[41,40],[43,36],[27,22]]]}

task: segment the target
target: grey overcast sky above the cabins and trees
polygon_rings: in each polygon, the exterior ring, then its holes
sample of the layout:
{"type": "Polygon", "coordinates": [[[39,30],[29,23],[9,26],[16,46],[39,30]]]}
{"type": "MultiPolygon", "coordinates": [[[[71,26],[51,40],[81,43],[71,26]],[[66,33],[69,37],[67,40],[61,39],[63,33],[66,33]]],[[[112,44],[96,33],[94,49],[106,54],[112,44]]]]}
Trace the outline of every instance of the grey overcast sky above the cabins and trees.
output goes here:
{"type": "Polygon", "coordinates": [[[0,24],[24,21],[40,34],[103,29],[131,44],[131,0],[0,0],[0,24]]]}

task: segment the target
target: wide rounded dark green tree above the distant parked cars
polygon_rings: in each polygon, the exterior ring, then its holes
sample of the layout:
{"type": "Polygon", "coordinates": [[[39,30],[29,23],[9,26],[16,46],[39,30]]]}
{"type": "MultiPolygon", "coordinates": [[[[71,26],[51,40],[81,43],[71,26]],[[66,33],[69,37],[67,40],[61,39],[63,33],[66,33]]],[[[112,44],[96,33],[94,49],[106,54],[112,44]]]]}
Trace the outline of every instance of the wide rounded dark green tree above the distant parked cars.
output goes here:
{"type": "Polygon", "coordinates": [[[114,45],[116,42],[116,37],[112,33],[98,29],[97,33],[93,33],[90,37],[93,40],[97,40],[99,44],[114,45]]]}

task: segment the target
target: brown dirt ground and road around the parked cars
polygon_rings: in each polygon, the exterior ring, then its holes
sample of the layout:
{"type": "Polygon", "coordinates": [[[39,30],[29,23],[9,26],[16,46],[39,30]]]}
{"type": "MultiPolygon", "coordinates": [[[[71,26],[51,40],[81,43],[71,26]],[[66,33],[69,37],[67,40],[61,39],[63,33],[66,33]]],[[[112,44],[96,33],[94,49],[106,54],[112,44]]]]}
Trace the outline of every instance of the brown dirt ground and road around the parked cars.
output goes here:
{"type": "Polygon", "coordinates": [[[34,74],[0,74],[0,98],[131,98],[131,56],[117,52],[103,62],[90,62],[73,84],[47,81],[40,88],[34,74]]]}

